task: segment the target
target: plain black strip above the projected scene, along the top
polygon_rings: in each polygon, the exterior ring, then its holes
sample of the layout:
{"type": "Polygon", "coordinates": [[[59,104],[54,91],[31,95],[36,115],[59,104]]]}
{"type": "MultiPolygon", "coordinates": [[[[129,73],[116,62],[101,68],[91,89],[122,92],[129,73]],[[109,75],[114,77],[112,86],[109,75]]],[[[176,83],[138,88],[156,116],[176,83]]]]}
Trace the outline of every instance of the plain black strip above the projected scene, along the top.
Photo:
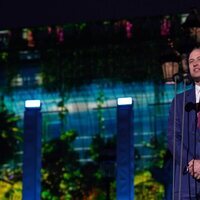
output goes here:
{"type": "Polygon", "coordinates": [[[1,0],[0,29],[188,13],[200,0],[1,0]]]}

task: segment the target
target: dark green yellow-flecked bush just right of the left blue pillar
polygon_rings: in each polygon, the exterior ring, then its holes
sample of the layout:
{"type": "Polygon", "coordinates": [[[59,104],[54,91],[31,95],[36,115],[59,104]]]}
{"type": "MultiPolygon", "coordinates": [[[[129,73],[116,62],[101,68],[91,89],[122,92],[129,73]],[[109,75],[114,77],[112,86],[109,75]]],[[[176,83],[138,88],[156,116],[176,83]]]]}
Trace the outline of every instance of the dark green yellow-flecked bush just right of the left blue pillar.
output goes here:
{"type": "Polygon", "coordinates": [[[68,131],[43,145],[43,199],[81,196],[79,157],[72,147],[75,138],[76,132],[68,131]]]}

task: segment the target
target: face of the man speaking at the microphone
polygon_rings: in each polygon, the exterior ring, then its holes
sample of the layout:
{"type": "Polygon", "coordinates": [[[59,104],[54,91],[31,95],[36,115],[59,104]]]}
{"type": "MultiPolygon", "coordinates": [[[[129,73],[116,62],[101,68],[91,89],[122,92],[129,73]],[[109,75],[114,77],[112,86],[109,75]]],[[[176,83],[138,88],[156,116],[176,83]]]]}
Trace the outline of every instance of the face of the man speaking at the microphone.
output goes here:
{"type": "Polygon", "coordinates": [[[200,81],[200,49],[195,49],[189,56],[190,74],[195,82],[200,81]]]}

